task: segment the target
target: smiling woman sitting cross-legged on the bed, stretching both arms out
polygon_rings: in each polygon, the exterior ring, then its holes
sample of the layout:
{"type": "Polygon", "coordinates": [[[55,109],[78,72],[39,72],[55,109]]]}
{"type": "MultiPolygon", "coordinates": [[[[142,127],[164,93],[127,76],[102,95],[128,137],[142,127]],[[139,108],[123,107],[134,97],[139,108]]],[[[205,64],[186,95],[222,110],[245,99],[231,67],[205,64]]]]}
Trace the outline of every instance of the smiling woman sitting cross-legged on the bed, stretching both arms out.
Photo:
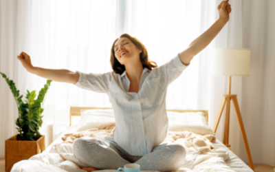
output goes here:
{"type": "Polygon", "coordinates": [[[114,133],[104,139],[83,137],[74,141],[74,156],[89,166],[83,168],[85,171],[118,169],[133,162],[140,164],[141,170],[175,171],[184,163],[186,150],[181,144],[162,143],[168,128],[166,89],[228,22],[228,0],[222,1],[218,10],[219,19],[206,32],[160,67],[148,59],[144,45],[129,34],[114,41],[110,60],[113,72],[104,74],[33,67],[28,54],[17,56],[32,74],[110,97],[114,133]]]}

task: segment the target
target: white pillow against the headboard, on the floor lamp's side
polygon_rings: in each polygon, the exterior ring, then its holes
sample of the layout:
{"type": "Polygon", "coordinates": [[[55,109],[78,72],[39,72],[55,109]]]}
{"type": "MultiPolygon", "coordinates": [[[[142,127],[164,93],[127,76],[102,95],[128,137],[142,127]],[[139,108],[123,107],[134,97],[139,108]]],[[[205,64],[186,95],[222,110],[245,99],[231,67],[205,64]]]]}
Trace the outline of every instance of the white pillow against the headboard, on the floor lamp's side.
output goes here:
{"type": "Polygon", "coordinates": [[[203,112],[167,111],[168,131],[192,131],[200,135],[214,135],[203,112]]]}

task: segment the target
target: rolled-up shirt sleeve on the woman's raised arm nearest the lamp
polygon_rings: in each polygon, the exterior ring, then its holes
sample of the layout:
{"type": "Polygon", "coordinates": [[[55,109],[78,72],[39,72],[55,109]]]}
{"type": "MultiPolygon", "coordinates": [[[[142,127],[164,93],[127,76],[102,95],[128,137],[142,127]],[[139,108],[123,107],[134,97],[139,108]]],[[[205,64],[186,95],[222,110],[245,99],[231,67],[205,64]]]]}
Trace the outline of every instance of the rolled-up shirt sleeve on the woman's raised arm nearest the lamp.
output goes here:
{"type": "Polygon", "coordinates": [[[159,66],[160,72],[162,72],[166,86],[170,85],[176,78],[178,78],[182,72],[184,72],[184,69],[188,67],[188,65],[184,65],[184,63],[181,62],[179,58],[179,54],[172,58],[170,61],[165,63],[162,66],[159,66]]]}

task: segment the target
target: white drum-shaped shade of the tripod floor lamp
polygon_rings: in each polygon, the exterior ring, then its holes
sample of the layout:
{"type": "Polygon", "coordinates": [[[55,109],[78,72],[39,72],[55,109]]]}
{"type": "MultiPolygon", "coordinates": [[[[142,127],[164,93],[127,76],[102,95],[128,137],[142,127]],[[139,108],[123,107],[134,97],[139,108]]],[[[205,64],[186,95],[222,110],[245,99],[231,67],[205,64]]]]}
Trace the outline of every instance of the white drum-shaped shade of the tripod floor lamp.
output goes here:
{"type": "Polygon", "coordinates": [[[249,76],[250,49],[248,48],[214,48],[214,75],[249,76]]]}

